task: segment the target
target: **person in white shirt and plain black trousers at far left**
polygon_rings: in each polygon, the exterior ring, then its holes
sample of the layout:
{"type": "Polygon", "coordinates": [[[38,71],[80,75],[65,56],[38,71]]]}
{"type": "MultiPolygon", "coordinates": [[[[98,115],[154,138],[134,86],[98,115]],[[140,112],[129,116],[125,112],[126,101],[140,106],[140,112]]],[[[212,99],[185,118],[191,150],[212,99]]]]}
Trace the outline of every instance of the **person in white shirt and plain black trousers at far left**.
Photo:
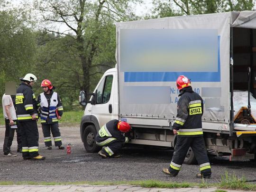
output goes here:
{"type": "Polygon", "coordinates": [[[3,94],[2,97],[3,115],[5,118],[5,138],[3,152],[5,157],[16,157],[17,155],[10,151],[10,146],[14,137],[14,132],[17,132],[17,116],[10,95],[3,94]]]}

